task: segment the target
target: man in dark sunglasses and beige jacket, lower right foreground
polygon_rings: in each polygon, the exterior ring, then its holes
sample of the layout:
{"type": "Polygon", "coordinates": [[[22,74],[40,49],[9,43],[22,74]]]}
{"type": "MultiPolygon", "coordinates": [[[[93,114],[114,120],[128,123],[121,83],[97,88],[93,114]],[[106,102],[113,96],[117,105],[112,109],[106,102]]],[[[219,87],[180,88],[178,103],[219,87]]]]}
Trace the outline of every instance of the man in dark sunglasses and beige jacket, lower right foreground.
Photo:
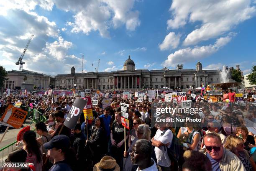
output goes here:
{"type": "Polygon", "coordinates": [[[246,171],[243,163],[232,152],[223,148],[220,136],[216,133],[204,135],[205,155],[212,163],[212,171],[246,171]]]}

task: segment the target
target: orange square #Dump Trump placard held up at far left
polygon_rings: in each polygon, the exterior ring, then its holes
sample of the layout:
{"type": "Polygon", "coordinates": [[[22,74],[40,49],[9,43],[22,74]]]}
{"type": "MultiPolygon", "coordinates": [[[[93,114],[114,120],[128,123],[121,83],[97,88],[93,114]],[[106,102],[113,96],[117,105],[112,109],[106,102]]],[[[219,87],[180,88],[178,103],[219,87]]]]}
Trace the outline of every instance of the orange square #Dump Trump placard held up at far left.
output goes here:
{"type": "Polygon", "coordinates": [[[7,123],[14,128],[20,128],[28,112],[21,110],[13,105],[9,105],[0,121],[7,123]]]}

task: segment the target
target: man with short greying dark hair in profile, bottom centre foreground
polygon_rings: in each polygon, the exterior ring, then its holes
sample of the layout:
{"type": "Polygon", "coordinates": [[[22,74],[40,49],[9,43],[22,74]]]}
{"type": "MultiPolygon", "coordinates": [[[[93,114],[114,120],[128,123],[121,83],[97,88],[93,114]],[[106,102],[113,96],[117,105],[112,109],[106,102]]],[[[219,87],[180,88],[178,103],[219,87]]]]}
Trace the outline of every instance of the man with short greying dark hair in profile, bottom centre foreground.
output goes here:
{"type": "Polygon", "coordinates": [[[155,161],[151,158],[151,152],[150,141],[145,139],[136,141],[131,152],[131,162],[138,165],[136,171],[158,171],[155,161]]]}

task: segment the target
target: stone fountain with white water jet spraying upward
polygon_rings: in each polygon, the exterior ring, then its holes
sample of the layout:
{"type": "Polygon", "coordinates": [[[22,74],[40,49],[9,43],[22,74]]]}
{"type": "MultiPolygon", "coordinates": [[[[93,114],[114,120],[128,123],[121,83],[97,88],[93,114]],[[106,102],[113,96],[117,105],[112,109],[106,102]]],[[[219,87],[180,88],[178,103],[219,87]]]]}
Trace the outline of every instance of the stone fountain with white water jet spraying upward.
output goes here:
{"type": "Polygon", "coordinates": [[[222,70],[220,71],[220,83],[213,83],[211,84],[212,87],[221,88],[221,90],[226,90],[231,87],[237,87],[241,85],[240,82],[236,82],[235,80],[231,79],[231,69],[223,65],[222,70]]]}

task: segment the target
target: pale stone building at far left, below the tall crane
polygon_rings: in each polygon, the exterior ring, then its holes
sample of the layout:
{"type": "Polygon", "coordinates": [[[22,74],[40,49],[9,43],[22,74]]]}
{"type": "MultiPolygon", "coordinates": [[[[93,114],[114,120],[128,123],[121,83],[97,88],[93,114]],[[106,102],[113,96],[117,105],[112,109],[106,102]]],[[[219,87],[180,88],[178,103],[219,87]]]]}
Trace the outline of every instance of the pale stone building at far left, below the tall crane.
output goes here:
{"type": "Polygon", "coordinates": [[[33,71],[23,69],[22,71],[8,71],[7,79],[4,82],[5,89],[27,89],[27,91],[33,90],[36,86],[39,89],[54,88],[55,77],[46,74],[40,74],[33,71]]]}

